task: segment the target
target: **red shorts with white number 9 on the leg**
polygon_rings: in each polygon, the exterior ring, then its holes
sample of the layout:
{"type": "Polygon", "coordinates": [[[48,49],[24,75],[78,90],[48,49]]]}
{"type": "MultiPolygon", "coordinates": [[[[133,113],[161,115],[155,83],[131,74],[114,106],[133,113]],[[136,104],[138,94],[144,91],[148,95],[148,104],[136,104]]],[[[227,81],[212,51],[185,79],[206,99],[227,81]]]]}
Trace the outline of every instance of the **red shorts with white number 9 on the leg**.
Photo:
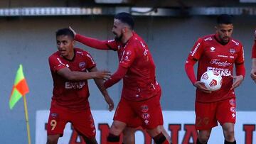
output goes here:
{"type": "Polygon", "coordinates": [[[95,124],[90,109],[72,111],[61,106],[50,107],[47,135],[60,134],[63,136],[65,125],[68,122],[79,134],[85,135],[87,138],[95,138],[95,124]]]}

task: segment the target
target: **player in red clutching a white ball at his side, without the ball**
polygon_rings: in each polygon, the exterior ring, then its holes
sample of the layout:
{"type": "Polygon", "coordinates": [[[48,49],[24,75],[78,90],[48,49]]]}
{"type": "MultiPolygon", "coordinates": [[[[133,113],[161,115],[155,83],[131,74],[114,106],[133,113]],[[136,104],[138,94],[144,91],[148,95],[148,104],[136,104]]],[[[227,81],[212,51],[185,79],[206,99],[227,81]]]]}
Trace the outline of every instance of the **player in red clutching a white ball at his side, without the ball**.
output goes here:
{"type": "Polygon", "coordinates": [[[235,92],[245,77],[245,66],[242,44],[230,38],[233,33],[231,16],[222,14],[217,18],[216,33],[198,38],[193,46],[185,70],[188,78],[196,89],[196,143],[207,143],[211,129],[218,126],[223,128],[225,144],[235,142],[235,92]],[[198,61],[197,79],[193,65],[198,61]],[[233,76],[235,65],[236,76],[233,76]],[[223,78],[222,87],[211,92],[199,79],[203,72],[215,70],[223,78]]]}

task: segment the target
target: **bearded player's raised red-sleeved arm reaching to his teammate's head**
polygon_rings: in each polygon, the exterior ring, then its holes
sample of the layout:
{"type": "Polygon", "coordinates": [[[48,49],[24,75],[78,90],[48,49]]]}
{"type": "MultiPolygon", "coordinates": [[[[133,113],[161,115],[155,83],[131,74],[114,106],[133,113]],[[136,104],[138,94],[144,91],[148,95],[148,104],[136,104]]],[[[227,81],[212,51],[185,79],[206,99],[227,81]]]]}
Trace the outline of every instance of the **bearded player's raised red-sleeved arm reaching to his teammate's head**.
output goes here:
{"type": "Polygon", "coordinates": [[[69,27],[71,31],[73,31],[75,35],[75,40],[87,45],[91,48],[95,48],[97,50],[110,50],[110,48],[107,45],[107,40],[97,40],[96,38],[89,38],[86,37],[85,35],[79,35],[76,33],[73,28],[69,27]]]}

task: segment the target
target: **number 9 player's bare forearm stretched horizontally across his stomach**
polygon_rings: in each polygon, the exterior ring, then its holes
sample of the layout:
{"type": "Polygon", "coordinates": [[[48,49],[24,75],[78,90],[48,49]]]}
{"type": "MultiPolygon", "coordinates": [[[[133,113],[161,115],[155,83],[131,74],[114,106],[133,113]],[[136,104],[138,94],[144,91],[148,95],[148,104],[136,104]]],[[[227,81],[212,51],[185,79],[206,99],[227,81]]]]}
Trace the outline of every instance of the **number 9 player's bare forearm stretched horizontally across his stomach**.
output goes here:
{"type": "Polygon", "coordinates": [[[57,72],[60,76],[68,80],[85,80],[85,79],[108,79],[110,72],[97,71],[97,72],[76,72],[71,71],[68,67],[64,67],[57,72]]]}

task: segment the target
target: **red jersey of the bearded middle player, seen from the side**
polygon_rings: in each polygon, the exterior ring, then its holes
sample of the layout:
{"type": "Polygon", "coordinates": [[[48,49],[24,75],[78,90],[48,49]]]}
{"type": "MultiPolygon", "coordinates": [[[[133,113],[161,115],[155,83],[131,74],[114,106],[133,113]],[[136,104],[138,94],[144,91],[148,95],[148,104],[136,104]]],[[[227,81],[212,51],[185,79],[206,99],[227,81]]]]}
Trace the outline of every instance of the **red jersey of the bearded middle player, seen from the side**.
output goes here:
{"type": "Polygon", "coordinates": [[[119,65],[128,68],[123,77],[124,99],[142,101],[161,90],[156,82],[156,67],[149,48],[137,33],[133,33],[125,44],[116,40],[108,40],[106,43],[111,50],[117,50],[119,65]]]}

